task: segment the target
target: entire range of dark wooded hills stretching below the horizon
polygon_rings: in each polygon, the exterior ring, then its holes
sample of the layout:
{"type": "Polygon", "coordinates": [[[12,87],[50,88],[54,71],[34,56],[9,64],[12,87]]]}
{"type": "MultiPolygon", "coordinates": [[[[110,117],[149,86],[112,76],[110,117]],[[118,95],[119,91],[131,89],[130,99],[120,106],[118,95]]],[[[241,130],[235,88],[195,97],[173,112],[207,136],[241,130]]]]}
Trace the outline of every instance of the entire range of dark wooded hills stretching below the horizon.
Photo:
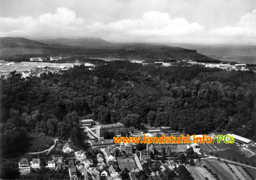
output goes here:
{"type": "Polygon", "coordinates": [[[184,49],[150,43],[111,43],[100,38],[46,39],[33,41],[26,38],[0,38],[0,58],[10,61],[26,61],[30,57],[48,55],[82,57],[121,58],[124,60],[201,60],[215,61],[197,53],[195,49],[184,49]]]}

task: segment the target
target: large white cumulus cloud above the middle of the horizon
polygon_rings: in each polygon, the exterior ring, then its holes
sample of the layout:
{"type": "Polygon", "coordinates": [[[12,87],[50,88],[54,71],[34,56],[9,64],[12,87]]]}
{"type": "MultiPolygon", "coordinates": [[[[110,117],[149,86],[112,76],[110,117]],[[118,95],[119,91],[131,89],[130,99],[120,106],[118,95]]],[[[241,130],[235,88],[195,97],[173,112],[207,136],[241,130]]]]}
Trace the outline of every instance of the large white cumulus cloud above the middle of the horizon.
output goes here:
{"type": "Polygon", "coordinates": [[[97,22],[87,28],[91,32],[143,37],[187,36],[204,30],[204,26],[198,23],[189,23],[184,18],[171,19],[169,14],[158,11],[145,12],[140,19],[123,19],[108,24],[97,22]]]}

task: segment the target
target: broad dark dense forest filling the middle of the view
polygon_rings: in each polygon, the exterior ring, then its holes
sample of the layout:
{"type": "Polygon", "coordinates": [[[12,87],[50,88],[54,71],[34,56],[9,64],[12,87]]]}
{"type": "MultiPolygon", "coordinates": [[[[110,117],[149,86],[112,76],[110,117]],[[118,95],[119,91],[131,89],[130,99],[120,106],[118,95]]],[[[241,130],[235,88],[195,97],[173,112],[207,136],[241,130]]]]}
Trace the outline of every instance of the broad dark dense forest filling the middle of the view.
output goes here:
{"type": "Polygon", "coordinates": [[[225,130],[255,140],[255,73],[104,63],[1,79],[1,156],[38,151],[52,137],[76,144],[79,118],[138,129],[150,123],[188,134],[225,130]]]}

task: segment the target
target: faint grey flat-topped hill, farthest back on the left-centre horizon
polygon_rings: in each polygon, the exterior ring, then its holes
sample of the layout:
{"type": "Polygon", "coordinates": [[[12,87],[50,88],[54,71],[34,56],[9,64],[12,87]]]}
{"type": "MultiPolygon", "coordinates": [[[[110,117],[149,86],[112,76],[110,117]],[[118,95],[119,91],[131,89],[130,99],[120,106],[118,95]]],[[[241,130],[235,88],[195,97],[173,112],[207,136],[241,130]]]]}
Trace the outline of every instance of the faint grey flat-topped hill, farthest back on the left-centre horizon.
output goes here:
{"type": "Polygon", "coordinates": [[[39,42],[46,43],[49,45],[69,45],[69,46],[87,46],[87,47],[111,45],[110,42],[105,41],[101,38],[80,38],[80,39],[58,38],[58,39],[39,40],[39,42]]]}

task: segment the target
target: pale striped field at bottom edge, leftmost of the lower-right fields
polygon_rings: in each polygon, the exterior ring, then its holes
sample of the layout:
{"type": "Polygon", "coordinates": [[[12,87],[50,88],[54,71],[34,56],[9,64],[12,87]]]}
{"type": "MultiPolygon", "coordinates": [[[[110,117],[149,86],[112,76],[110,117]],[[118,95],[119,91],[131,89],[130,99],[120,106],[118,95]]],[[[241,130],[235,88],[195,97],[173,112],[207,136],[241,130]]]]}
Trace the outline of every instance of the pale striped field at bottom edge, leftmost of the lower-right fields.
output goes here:
{"type": "Polygon", "coordinates": [[[207,177],[209,180],[215,180],[215,178],[202,166],[186,166],[187,169],[191,172],[191,175],[196,180],[205,180],[207,177]]]}

